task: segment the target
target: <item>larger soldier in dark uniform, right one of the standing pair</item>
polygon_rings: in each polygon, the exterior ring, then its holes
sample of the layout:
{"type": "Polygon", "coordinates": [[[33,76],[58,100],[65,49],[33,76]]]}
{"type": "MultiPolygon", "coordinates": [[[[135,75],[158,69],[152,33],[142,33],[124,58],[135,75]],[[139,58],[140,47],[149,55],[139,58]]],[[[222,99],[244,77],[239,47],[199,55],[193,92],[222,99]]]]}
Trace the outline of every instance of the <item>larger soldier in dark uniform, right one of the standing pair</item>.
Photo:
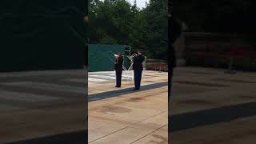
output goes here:
{"type": "Polygon", "coordinates": [[[143,66],[142,63],[145,61],[145,56],[142,55],[142,51],[138,50],[137,55],[134,57],[134,90],[139,90],[141,86],[142,80],[142,70],[143,66]]]}

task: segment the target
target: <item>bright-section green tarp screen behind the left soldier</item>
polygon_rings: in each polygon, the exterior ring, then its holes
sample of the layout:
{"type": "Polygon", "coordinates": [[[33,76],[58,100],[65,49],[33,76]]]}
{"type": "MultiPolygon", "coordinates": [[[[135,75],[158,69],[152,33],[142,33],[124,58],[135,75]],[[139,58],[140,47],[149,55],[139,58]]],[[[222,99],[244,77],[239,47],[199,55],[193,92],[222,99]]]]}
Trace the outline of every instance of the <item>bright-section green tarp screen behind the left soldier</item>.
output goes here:
{"type": "Polygon", "coordinates": [[[124,50],[123,45],[89,45],[89,71],[114,70],[114,54],[124,54],[124,50]]]}

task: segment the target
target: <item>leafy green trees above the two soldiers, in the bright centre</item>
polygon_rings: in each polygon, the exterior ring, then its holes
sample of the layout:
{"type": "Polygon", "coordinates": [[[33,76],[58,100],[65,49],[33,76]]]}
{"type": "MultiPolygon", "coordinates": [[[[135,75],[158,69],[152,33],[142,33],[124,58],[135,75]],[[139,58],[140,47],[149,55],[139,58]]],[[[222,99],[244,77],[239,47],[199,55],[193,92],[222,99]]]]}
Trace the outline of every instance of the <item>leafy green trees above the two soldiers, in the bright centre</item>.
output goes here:
{"type": "Polygon", "coordinates": [[[166,59],[166,7],[166,0],[150,0],[142,10],[126,0],[90,0],[90,43],[130,45],[166,59]]]}

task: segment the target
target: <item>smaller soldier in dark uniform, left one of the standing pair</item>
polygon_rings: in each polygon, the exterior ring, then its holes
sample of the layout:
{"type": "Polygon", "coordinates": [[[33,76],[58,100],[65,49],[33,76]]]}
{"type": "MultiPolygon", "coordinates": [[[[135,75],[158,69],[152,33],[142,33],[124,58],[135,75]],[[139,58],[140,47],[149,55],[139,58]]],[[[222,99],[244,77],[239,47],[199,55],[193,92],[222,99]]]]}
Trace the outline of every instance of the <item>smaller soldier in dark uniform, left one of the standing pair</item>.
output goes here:
{"type": "Polygon", "coordinates": [[[116,86],[115,87],[121,87],[121,80],[122,80],[122,53],[118,53],[115,58],[114,62],[114,70],[115,70],[115,76],[116,76],[116,86]]]}

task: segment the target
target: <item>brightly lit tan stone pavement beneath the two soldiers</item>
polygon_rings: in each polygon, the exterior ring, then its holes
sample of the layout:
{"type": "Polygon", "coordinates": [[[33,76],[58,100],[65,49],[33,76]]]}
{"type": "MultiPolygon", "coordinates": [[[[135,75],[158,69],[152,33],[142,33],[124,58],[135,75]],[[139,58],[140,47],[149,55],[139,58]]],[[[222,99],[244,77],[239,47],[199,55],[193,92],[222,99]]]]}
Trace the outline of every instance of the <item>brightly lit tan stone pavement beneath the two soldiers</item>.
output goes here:
{"type": "Polygon", "coordinates": [[[122,88],[115,88],[114,71],[89,73],[89,99],[106,95],[89,102],[89,143],[168,143],[167,73],[143,71],[138,91],[132,77],[124,72],[122,88]],[[105,81],[90,82],[92,75],[105,81]]]}

